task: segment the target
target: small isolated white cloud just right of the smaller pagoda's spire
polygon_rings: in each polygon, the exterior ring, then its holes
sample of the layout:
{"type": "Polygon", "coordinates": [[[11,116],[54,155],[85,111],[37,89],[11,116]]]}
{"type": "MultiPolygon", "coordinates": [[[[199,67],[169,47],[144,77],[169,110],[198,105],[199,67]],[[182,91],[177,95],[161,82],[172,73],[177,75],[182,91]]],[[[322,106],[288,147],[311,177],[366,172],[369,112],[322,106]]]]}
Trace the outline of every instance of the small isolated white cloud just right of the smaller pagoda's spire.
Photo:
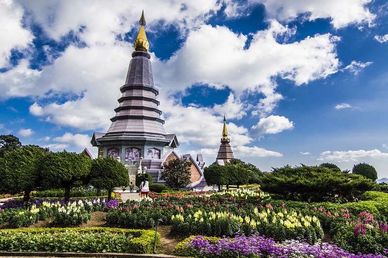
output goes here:
{"type": "Polygon", "coordinates": [[[293,122],[288,118],[284,116],[270,115],[265,118],[260,118],[259,123],[253,126],[249,131],[249,135],[259,136],[263,134],[275,134],[292,128],[293,122]]]}

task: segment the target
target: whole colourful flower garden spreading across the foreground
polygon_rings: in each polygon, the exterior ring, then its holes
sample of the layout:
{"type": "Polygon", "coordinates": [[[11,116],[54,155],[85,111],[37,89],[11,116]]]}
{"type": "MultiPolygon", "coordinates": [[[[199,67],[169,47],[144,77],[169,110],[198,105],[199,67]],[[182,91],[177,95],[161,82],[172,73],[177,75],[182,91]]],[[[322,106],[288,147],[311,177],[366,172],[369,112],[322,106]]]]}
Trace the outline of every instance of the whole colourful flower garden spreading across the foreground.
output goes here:
{"type": "Polygon", "coordinates": [[[192,235],[177,243],[172,254],[179,256],[388,257],[388,194],[367,192],[364,201],[308,204],[274,200],[258,187],[223,193],[151,194],[125,203],[102,198],[68,202],[34,198],[23,207],[20,201],[9,201],[1,206],[0,224],[8,222],[17,228],[50,217],[53,227],[0,230],[0,250],[152,252],[154,231],[66,228],[87,222],[96,210],[106,212],[110,225],[151,228],[160,221],[172,231],[192,235]],[[139,241],[146,244],[134,244],[139,241]]]}

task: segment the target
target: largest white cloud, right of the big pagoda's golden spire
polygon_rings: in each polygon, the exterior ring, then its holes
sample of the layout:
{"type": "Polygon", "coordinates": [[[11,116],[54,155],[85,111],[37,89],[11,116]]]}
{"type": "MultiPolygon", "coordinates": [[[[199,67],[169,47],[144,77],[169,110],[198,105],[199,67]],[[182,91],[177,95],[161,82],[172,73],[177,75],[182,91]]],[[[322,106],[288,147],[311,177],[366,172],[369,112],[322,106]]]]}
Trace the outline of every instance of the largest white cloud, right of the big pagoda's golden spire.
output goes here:
{"type": "Polygon", "coordinates": [[[154,81],[169,93],[193,84],[227,85],[237,97],[244,91],[259,92],[264,95],[257,103],[259,113],[270,113],[283,98],[275,92],[274,77],[301,85],[338,71],[335,45],[339,37],[317,34],[298,42],[277,42],[292,33],[293,29],[272,20],[268,29],[253,34],[250,47],[244,49],[246,35],[202,25],[189,33],[168,61],[153,57],[154,81]],[[205,42],[217,47],[203,48],[205,42]]]}

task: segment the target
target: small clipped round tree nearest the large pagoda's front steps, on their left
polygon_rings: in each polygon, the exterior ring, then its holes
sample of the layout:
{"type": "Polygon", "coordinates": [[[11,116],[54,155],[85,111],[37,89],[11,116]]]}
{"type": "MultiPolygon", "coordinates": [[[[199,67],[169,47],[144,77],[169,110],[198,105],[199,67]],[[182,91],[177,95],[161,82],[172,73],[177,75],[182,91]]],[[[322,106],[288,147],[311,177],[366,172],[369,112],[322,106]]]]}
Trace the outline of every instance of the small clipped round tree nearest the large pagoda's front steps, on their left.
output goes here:
{"type": "Polygon", "coordinates": [[[97,189],[106,189],[110,201],[114,187],[129,184],[128,170],[113,157],[97,158],[92,160],[90,184],[97,189]]]}

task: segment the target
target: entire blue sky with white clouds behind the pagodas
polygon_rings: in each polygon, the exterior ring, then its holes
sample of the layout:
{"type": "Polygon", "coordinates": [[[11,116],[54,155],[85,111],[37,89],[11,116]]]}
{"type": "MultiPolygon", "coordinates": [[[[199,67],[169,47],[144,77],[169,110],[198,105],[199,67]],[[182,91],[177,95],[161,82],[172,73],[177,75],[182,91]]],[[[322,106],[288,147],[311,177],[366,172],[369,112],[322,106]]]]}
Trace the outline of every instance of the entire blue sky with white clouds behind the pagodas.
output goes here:
{"type": "MultiPolygon", "coordinates": [[[[385,0],[0,1],[0,134],[81,152],[118,105],[144,9],[164,128],[215,161],[388,177],[385,0]]],[[[97,153],[97,150],[94,150],[97,153]]]]}

